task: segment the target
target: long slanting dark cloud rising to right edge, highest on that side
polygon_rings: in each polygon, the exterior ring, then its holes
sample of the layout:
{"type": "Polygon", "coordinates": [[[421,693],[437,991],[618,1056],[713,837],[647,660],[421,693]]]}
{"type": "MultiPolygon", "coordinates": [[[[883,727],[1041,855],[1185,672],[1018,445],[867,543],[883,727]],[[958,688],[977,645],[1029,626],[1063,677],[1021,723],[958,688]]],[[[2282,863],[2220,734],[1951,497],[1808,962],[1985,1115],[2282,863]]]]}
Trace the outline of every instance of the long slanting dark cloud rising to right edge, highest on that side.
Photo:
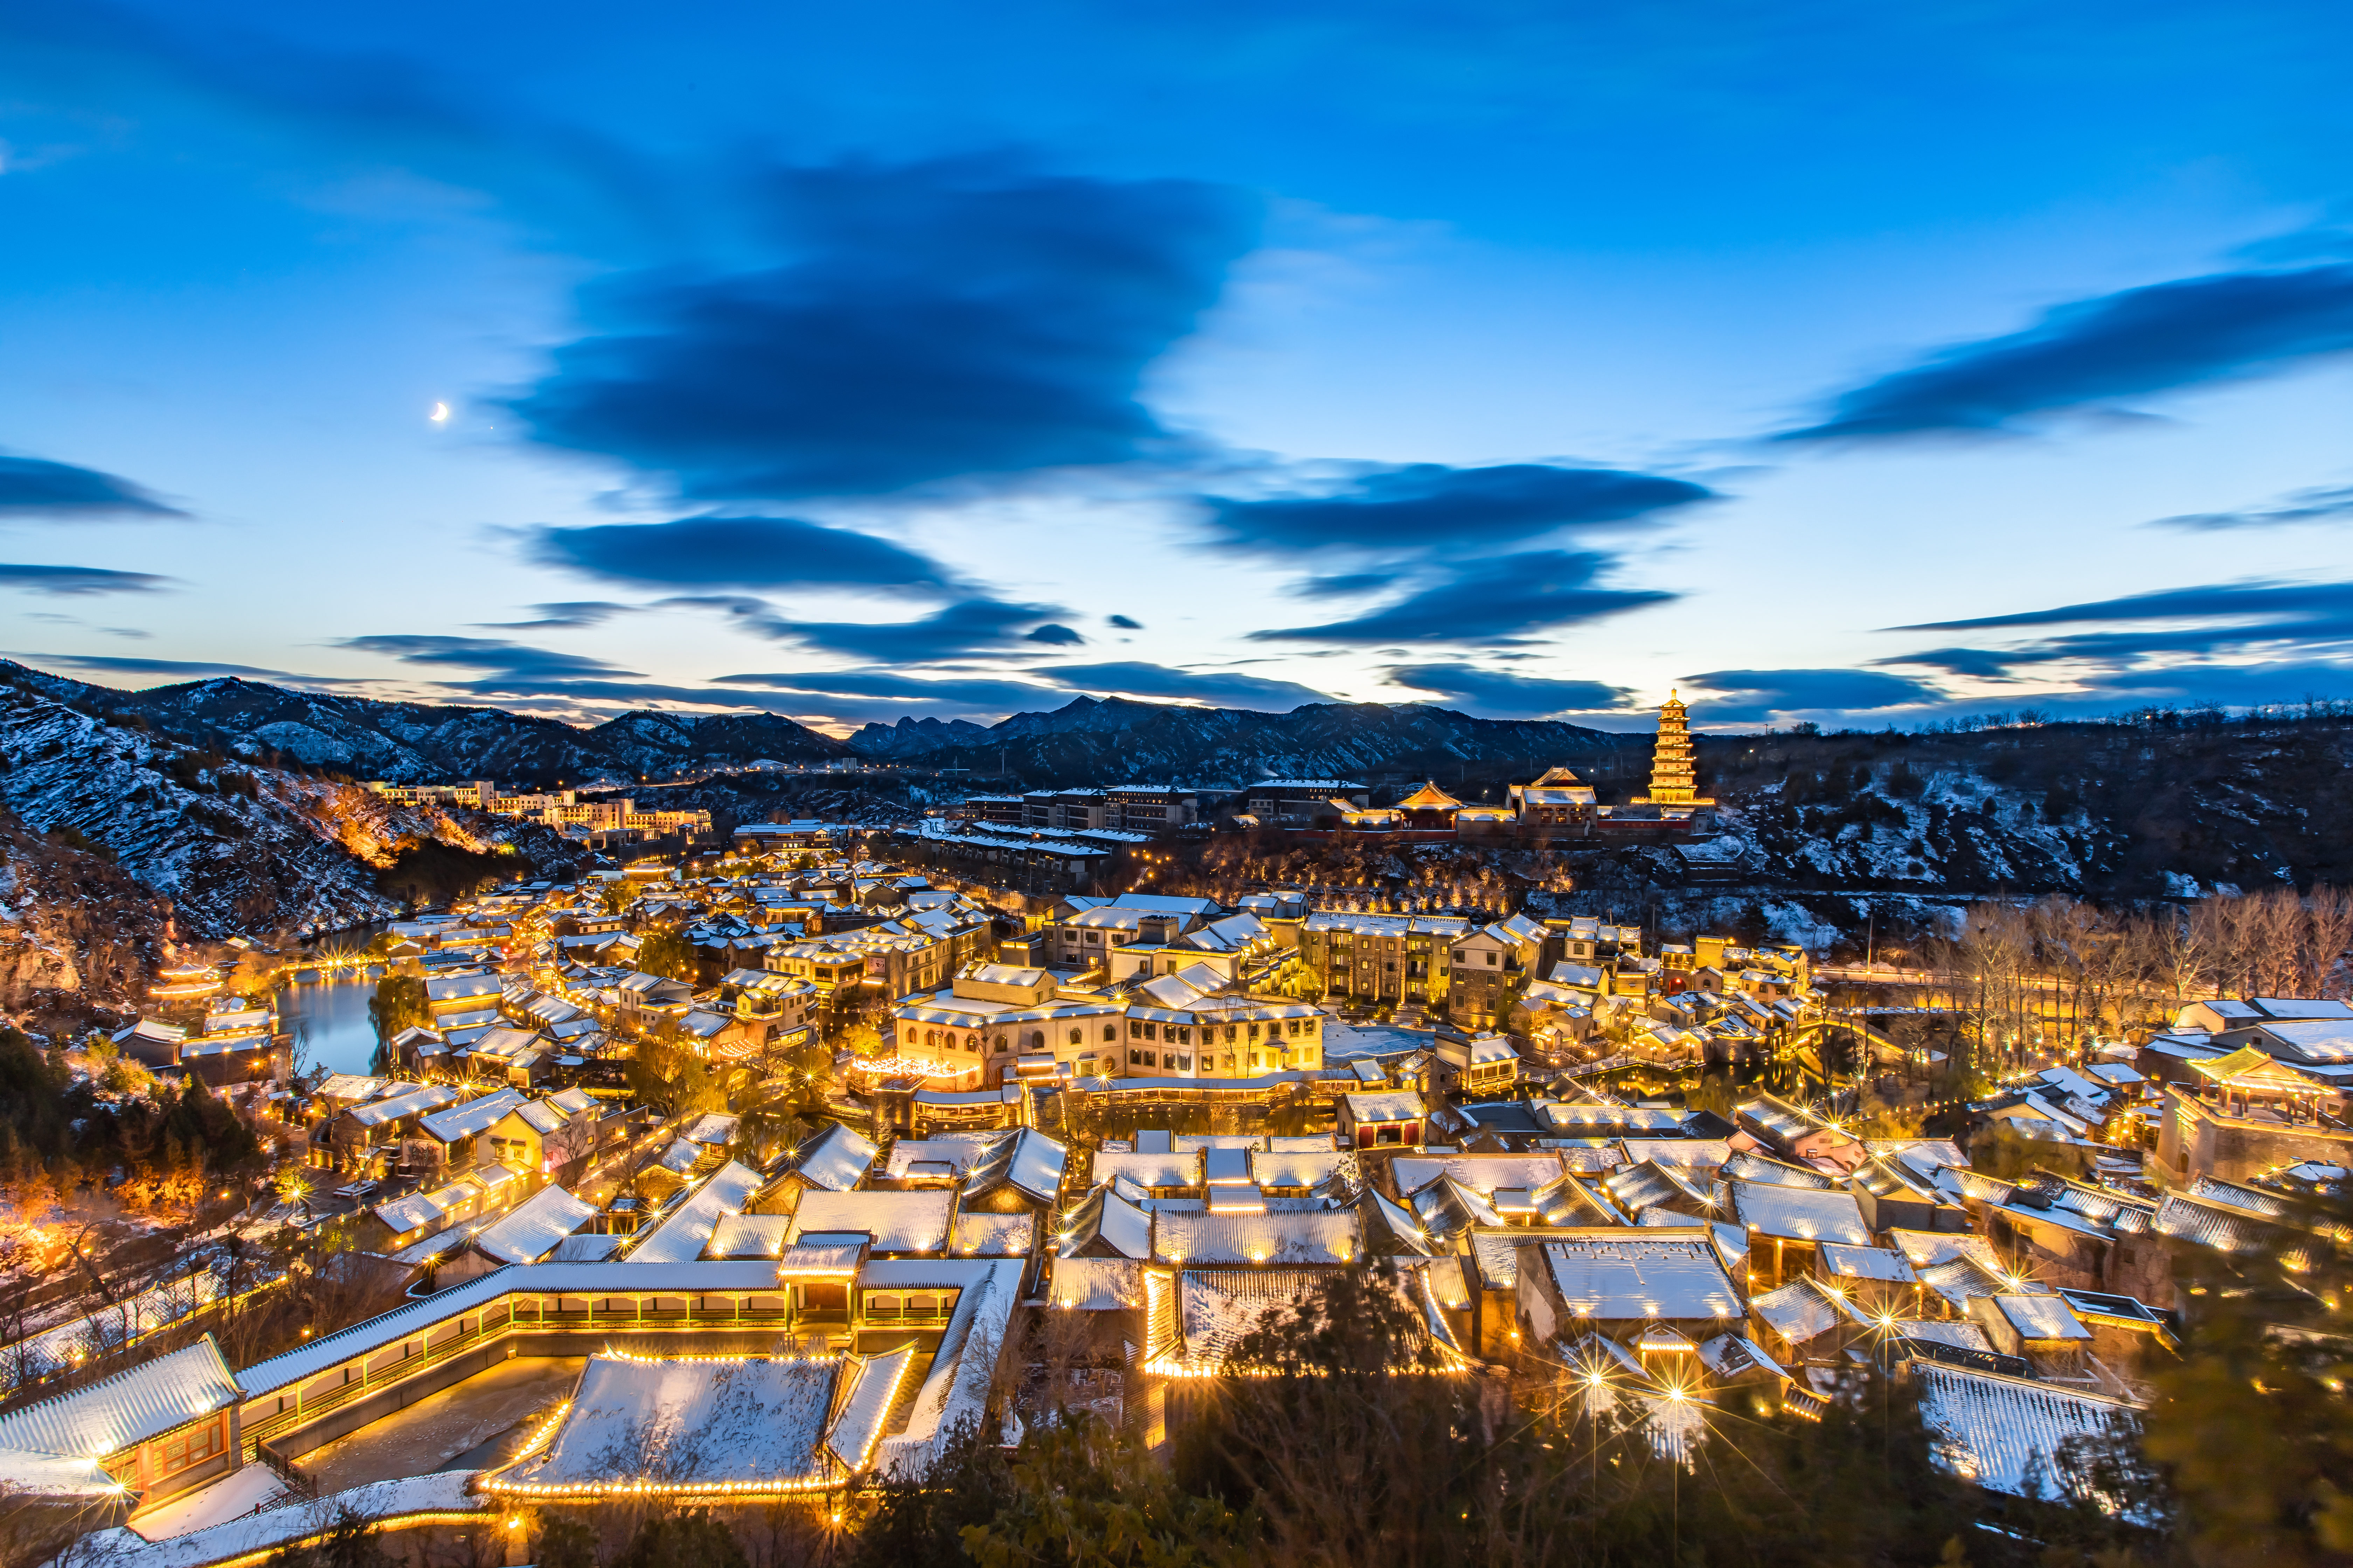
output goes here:
{"type": "Polygon", "coordinates": [[[2061,306],[1840,393],[1784,442],[2009,430],[2038,414],[2280,369],[2353,348],[2353,266],[2221,273],[2061,306]]]}

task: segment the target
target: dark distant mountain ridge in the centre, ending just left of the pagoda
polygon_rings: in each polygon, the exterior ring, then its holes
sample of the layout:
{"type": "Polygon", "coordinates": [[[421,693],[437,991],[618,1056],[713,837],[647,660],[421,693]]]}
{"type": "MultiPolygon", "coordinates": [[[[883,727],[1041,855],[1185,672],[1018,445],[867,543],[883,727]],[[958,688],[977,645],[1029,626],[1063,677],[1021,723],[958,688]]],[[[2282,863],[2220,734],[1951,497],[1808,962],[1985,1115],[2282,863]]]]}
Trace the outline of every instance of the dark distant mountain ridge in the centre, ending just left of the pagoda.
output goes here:
{"type": "Polygon", "coordinates": [[[1052,712],[979,724],[868,724],[849,745],[875,759],[972,769],[1007,788],[1129,780],[1527,776],[1617,745],[1577,724],[1473,719],[1424,703],[1311,703],[1292,712],[1073,698],[1052,712]]]}

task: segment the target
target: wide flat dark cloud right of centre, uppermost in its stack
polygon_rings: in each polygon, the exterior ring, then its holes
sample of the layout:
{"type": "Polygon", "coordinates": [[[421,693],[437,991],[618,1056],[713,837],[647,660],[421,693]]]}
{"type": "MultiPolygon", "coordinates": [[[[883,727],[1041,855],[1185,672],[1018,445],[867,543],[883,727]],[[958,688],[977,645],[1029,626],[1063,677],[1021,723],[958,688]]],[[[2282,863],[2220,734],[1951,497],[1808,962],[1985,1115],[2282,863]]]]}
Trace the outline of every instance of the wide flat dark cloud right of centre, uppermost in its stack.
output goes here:
{"type": "Polygon", "coordinates": [[[1209,527],[1235,545],[1278,555],[1318,550],[1459,550],[1466,536],[1522,543],[1553,529],[1626,522],[1715,491],[1619,468],[1412,463],[1362,475],[1327,496],[1228,501],[1207,496],[1209,527]]]}

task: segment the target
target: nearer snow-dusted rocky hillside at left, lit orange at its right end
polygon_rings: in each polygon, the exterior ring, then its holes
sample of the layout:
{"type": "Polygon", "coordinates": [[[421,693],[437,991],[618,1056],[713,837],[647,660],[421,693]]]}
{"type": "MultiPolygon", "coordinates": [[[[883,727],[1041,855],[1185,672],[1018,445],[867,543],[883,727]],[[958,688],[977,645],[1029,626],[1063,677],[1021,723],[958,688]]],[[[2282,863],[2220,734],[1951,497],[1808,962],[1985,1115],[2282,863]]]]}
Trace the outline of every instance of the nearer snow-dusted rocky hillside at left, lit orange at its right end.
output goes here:
{"type": "Polygon", "coordinates": [[[165,896],[191,938],[388,919],[400,900],[386,889],[412,856],[532,875],[574,853],[532,823],[393,806],[24,686],[0,689],[0,804],[165,896]]]}

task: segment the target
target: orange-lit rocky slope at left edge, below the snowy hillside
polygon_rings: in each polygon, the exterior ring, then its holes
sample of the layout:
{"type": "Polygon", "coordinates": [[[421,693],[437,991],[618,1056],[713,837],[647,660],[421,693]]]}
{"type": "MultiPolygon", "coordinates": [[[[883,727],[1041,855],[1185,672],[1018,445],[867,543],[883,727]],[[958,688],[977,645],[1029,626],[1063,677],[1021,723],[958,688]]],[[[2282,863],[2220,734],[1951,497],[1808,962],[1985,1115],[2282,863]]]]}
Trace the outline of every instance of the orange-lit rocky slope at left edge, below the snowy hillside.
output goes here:
{"type": "Polygon", "coordinates": [[[172,936],[165,898],[0,809],[0,1018],[40,1032],[113,1023],[146,997],[172,936]]]}

